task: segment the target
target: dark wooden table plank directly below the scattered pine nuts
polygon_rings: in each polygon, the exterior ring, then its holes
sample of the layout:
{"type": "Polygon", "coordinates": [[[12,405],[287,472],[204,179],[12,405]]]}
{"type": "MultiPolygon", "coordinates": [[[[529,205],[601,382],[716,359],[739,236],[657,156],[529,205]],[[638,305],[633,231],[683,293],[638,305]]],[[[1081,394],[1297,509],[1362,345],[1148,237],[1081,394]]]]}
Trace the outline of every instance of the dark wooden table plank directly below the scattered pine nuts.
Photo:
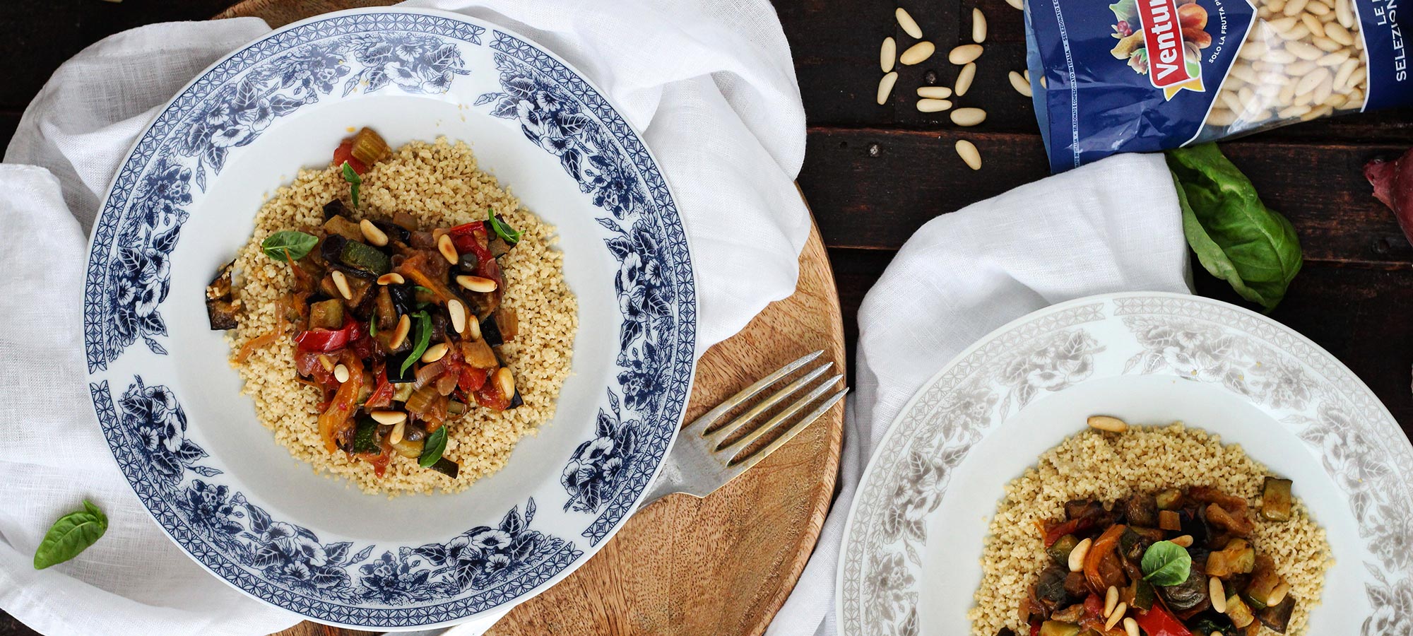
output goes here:
{"type": "MultiPolygon", "coordinates": [[[[1224,150],[1296,225],[1306,259],[1413,269],[1413,247],[1361,171],[1400,144],[1232,141],[1224,150]]],[[[928,219],[1047,174],[1036,136],[811,127],[800,185],[828,246],[897,249],[928,219]],[[981,150],[981,171],[957,157],[962,137],[981,150]]]]}

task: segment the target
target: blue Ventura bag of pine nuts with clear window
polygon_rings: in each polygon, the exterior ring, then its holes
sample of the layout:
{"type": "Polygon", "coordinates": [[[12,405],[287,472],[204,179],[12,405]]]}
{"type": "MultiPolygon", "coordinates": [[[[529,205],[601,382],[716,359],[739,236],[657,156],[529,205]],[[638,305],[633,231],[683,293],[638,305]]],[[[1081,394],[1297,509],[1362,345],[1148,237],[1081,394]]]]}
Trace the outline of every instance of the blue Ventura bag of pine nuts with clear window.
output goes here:
{"type": "Polygon", "coordinates": [[[1027,0],[1056,172],[1413,103],[1399,0],[1027,0]],[[1256,3],[1255,6],[1252,3],[1256,3]]]}

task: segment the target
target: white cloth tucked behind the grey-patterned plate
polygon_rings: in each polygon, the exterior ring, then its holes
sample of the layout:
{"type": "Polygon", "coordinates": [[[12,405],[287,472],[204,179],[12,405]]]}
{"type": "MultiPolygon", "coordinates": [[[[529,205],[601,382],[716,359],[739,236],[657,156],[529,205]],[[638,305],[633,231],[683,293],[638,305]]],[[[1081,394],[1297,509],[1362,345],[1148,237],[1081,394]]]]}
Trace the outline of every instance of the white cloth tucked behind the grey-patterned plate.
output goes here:
{"type": "Polygon", "coordinates": [[[1163,155],[1121,154],[938,216],[859,307],[855,399],[839,497],[767,636],[832,636],[835,564],[853,490],[907,400],[996,328],[1111,291],[1190,293],[1187,242],[1163,155]]]}

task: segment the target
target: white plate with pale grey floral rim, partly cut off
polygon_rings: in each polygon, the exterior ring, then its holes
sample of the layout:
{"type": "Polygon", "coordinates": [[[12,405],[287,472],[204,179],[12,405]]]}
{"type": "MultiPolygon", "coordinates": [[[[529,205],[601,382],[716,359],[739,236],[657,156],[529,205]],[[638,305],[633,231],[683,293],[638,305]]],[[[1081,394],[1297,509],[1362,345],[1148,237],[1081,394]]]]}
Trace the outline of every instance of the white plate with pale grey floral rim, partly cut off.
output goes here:
{"type": "Polygon", "coordinates": [[[982,538],[1005,483],[1096,413],[1183,420],[1294,481],[1335,558],[1310,635],[1413,633],[1413,445],[1388,408],[1290,328],[1160,293],[1030,314],[913,396],[849,510],[839,633],[971,633],[982,538]]]}

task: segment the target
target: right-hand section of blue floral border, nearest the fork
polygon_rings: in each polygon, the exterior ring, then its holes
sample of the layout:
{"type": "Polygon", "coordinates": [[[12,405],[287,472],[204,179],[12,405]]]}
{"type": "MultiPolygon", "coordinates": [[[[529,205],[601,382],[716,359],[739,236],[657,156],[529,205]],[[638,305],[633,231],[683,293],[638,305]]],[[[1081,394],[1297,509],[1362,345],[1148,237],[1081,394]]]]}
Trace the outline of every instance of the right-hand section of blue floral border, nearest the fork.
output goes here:
{"type": "Polygon", "coordinates": [[[632,513],[656,458],[667,451],[677,423],[661,421],[661,414],[685,406],[690,373],[682,366],[690,369],[695,342],[685,233],[675,213],[651,215],[653,208],[675,212],[667,182],[598,90],[514,35],[496,31],[490,48],[502,90],[482,95],[475,106],[517,122],[526,139],[554,154],[579,191],[609,213],[596,220],[610,233],[605,245],[619,263],[613,285],[623,315],[616,360],[623,394],[620,401],[609,389],[595,437],[575,449],[561,473],[569,495],[565,510],[598,514],[584,530],[592,546],[632,513]],[[675,319],[674,301],[682,308],[675,319]]]}

